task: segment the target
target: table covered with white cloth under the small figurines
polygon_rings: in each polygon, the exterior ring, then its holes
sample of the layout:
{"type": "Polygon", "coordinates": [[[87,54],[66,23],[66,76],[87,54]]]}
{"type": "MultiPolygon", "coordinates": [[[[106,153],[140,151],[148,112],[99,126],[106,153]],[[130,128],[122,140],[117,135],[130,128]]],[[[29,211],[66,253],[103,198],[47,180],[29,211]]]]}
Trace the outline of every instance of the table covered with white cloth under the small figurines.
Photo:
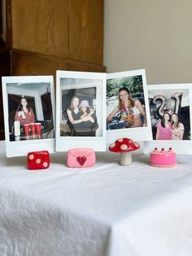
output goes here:
{"type": "Polygon", "coordinates": [[[149,157],[119,166],[97,152],[94,167],[70,169],[66,154],[27,170],[0,142],[0,255],[191,256],[192,156],[157,168],[149,157]]]}

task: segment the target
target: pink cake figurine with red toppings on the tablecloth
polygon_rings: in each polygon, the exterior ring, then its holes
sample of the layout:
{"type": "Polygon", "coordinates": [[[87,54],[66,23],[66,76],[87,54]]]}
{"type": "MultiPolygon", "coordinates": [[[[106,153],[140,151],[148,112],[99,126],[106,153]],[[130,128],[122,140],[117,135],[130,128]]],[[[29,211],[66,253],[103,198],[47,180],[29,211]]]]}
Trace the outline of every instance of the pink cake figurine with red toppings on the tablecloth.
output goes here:
{"type": "Polygon", "coordinates": [[[153,152],[150,153],[150,165],[157,167],[171,167],[176,165],[176,152],[172,151],[172,148],[164,150],[161,148],[154,148],[153,152]]]}

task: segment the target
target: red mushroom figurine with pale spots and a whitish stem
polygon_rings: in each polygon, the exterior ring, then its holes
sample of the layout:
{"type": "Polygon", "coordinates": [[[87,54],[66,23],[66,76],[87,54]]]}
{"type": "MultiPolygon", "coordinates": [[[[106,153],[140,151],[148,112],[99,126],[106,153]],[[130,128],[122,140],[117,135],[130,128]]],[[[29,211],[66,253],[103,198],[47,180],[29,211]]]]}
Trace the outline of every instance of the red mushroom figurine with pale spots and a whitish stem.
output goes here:
{"type": "Polygon", "coordinates": [[[130,166],[132,163],[132,151],[140,148],[139,144],[129,138],[116,139],[109,146],[111,152],[120,152],[120,165],[130,166]]]}

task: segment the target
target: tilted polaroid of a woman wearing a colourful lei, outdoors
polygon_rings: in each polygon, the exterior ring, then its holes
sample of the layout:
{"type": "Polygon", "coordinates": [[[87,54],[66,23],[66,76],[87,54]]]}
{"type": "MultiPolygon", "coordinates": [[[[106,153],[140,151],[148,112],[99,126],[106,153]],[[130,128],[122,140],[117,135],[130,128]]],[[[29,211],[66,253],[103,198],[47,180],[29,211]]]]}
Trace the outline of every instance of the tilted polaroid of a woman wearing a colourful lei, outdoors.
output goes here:
{"type": "Polygon", "coordinates": [[[107,74],[107,143],[122,137],[152,139],[144,69],[107,74]]]}

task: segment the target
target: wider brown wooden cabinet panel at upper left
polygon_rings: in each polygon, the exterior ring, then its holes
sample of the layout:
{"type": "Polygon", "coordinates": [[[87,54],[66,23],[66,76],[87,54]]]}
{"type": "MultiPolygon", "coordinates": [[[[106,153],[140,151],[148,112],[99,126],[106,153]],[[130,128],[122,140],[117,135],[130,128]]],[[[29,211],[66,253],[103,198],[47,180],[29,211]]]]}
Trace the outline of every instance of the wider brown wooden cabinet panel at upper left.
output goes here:
{"type": "Polygon", "coordinates": [[[68,57],[68,0],[12,0],[13,49],[68,57]]]}

